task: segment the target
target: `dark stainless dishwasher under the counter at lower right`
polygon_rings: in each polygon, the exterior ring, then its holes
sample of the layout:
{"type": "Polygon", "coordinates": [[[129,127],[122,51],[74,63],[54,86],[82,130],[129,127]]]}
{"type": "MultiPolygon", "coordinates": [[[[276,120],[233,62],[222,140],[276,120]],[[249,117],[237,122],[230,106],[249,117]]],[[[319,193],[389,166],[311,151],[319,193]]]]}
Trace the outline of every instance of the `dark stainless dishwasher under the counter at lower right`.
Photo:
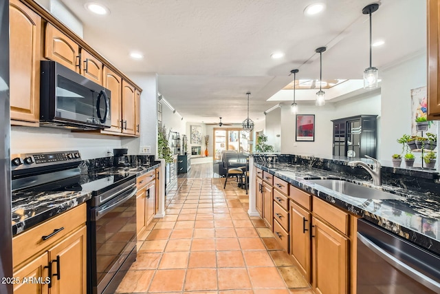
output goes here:
{"type": "Polygon", "coordinates": [[[440,257],[358,220],[358,294],[438,294],[440,257]]]}

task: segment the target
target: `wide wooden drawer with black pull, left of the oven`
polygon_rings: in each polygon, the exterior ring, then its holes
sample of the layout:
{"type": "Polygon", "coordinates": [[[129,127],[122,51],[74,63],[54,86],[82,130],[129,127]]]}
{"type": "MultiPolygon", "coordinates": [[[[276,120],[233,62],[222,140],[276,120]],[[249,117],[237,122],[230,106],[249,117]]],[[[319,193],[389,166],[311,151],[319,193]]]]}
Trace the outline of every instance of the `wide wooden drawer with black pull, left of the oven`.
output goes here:
{"type": "Polygon", "coordinates": [[[80,225],[85,224],[86,220],[86,204],[84,203],[15,236],[12,238],[12,264],[14,267],[18,266],[32,255],[47,249],[47,246],[51,246],[80,225]],[[61,231],[43,240],[43,236],[48,236],[61,228],[63,228],[61,231]]]}

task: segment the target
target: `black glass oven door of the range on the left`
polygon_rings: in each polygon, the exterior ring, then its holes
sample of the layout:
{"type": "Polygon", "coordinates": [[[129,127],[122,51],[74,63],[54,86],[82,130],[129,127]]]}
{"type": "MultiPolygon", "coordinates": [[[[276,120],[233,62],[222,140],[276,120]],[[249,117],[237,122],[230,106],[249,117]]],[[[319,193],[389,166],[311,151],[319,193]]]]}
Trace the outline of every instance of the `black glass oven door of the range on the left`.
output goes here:
{"type": "Polygon", "coordinates": [[[113,293],[136,255],[136,187],[89,213],[91,293],[113,293]]]}

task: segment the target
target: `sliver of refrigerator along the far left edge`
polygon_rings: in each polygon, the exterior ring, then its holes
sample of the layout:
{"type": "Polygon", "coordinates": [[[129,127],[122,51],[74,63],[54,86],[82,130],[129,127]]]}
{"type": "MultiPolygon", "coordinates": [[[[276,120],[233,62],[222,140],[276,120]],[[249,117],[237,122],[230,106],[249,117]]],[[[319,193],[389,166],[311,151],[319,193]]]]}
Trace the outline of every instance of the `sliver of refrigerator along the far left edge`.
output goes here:
{"type": "Polygon", "coordinates": [[[12,294],[8,0],[0,0],[0,138],[0,294],[12,294]]]}

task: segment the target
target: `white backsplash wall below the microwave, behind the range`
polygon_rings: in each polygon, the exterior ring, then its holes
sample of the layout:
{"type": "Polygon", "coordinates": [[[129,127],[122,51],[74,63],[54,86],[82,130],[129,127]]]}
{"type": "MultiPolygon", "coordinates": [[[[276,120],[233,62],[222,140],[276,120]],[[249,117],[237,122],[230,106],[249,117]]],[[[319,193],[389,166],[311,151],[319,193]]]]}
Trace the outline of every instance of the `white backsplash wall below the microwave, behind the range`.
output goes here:
{"type": "Polygon", "coordinates": [[[11,154],[78,150],[81,158],[90,159],[110,156],[107,147],[121,148],[120,137],[53,127],[11,127],[11,154]]]}

